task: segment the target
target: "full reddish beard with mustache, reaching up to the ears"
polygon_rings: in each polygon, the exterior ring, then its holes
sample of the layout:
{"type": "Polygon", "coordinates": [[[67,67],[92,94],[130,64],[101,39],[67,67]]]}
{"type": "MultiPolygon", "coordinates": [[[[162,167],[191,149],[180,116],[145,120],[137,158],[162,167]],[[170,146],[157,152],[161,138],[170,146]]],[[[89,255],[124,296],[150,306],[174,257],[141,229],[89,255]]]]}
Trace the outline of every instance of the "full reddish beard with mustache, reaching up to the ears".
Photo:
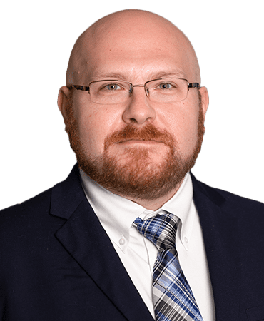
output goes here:
{"type": "Polygon", "coordinates": [[[181,155],[177,141],[168,131],[158,130],[152,124],[141,129],[136,128],[133,124],[127,125],[121,131],[115,131],[106,137],[101,156],[94,158],[88,156],[86,152],[88,146],[84,145],[79,137],[78,123],[72,108],[72,98],[69,98],[66,109],[65,131],[68,133],[68,140],[71,149],[76,154],[79,167],[96,183],[125,198],[155,200],[176,189],[186,173],[196,164],[205,133],[200,93],[199,101],[196,146],[193,148],[193,153],[186,157],[181,155]],[[121,157],[111,155],[109,149],[111,146],[127,140],[159,141],[166,145],[166,153],[164,153],[162,161],[157,164],[151,159],[153,147],[127,147],[126,153],[122,153],[127,161],[122,162],[121,157]]]}

